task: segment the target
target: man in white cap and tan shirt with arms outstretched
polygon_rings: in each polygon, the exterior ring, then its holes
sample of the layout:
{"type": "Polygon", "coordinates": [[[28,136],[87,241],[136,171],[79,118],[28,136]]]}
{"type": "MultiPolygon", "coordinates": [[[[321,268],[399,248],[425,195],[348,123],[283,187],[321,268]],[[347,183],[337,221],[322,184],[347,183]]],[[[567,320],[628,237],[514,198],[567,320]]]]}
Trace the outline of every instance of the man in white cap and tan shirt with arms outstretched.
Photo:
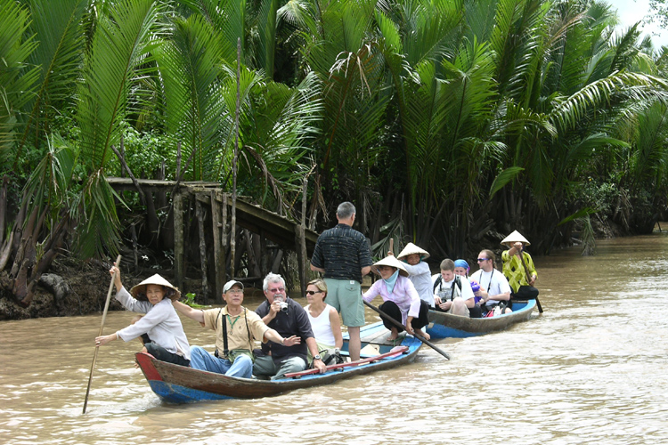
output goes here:
{"type": "Polygon", "coordinates": [[[204,328],[216,331],[216,353],[211,354],[200,346],[191,346],[191,368],[224,374],[225,376],[251,378],[253,375],[253,348],[255,340],[263,343],[271,340],[286,346],[298,344],[297,336],[283,338],[269,328],[257,313],[248,311],[243,303],[243,284],[231,280],[223,287],[224,308],[202,311],[176,302],[176,311],[204,328]]]}

